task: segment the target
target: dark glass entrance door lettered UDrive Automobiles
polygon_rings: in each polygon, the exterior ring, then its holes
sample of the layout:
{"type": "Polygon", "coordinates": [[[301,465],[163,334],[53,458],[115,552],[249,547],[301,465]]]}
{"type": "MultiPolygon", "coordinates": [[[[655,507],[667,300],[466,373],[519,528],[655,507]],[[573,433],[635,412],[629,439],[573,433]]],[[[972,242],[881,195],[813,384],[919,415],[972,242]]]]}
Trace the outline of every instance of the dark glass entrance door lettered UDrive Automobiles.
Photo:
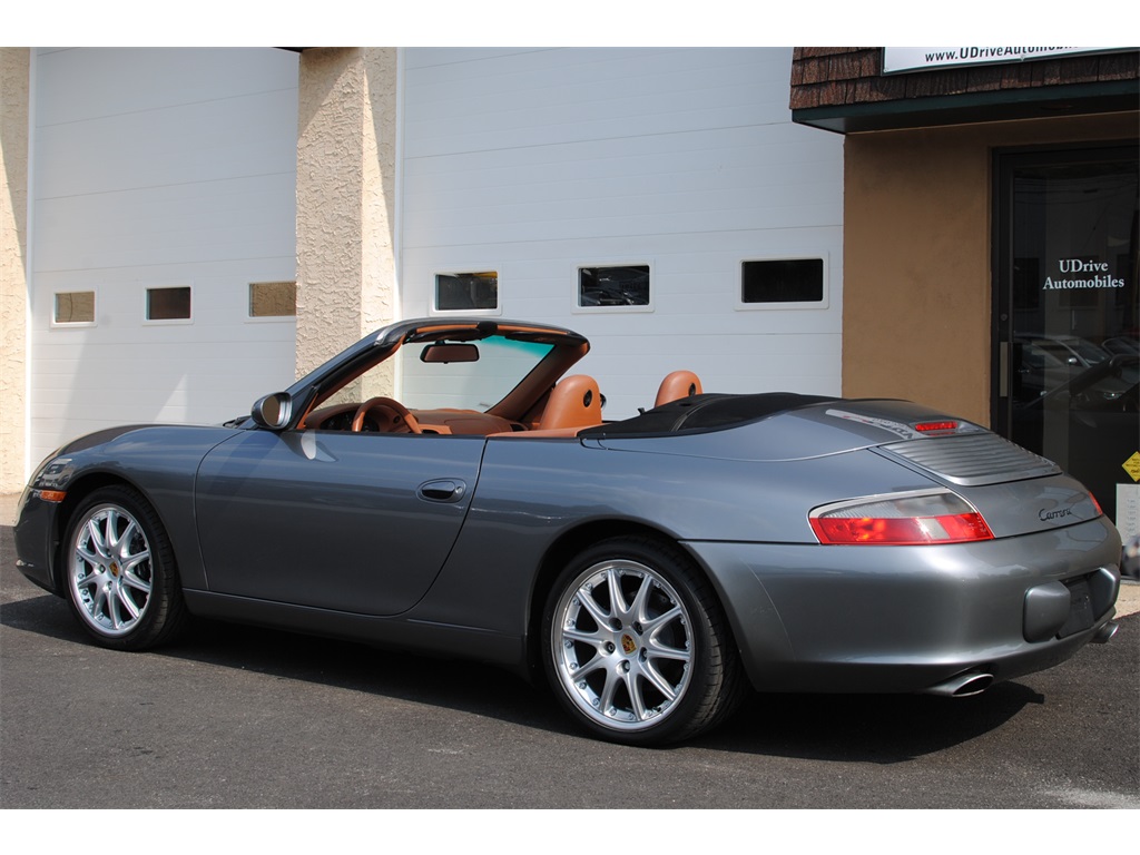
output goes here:
{"type": "Polygon", "coordinates": [[[994,429],[1134,536],[1138,148],[1001,154],[995,177],[994,429]]]}

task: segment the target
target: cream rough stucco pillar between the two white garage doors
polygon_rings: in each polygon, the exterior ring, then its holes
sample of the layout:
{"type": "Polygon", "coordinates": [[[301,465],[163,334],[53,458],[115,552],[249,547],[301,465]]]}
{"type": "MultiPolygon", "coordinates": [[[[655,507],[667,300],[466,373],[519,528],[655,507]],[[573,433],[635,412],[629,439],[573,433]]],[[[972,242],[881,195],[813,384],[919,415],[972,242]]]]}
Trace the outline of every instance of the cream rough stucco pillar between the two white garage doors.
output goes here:
{"type": "Polygon", "coordinates": [[[299,376],[396,317],[397,50],[309,49],[300,75],[299,376]]]}

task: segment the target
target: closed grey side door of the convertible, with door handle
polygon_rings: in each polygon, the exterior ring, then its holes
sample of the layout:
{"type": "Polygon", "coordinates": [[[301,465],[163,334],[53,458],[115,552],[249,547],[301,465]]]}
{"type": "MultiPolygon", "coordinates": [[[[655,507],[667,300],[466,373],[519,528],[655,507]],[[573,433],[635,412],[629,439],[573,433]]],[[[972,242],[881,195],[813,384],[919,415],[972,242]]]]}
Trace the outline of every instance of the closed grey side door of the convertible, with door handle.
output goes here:
{"type": "Polygon", "coordinates": [[[358,614],[423,596],[458,536],[482,437],[246,431],[199,467],[211,592],[358,614]]]}

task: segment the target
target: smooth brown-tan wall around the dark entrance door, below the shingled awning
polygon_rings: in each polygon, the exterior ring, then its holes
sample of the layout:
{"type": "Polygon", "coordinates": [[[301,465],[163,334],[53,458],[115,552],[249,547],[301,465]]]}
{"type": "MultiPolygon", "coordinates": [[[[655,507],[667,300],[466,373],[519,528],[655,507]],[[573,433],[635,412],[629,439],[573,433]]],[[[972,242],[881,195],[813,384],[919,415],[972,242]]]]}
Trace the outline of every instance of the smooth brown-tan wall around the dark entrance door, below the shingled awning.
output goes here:
{"type": "Polygon", "coordinates": [[[848,136],[844,394],[988,424],[993,149],[1137,130],[1129,113],[848,136]]]}

